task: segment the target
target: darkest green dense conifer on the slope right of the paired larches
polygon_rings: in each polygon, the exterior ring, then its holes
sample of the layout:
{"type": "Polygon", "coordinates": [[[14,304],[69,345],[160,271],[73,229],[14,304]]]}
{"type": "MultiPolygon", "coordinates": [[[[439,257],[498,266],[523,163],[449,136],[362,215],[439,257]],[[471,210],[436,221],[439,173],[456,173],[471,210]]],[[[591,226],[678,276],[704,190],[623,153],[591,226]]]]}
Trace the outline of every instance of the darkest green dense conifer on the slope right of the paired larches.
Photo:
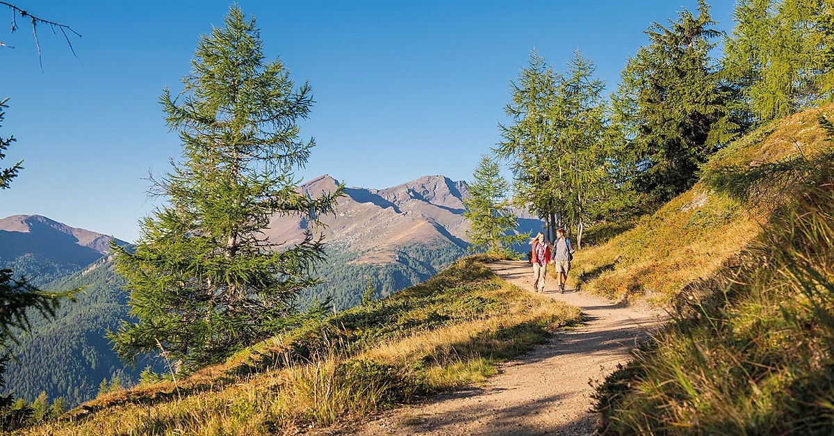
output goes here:
{"type": "Polygon", "coordinates": [[[741,129],[710,55],[721,33],[709,9],[701,0],[697,17],[684,10],[668,27],[653,23],[651,42],[628,59],[613,99],[641,170],[636,189],[656,202],[689,189],[699,165],[741,129]]]}

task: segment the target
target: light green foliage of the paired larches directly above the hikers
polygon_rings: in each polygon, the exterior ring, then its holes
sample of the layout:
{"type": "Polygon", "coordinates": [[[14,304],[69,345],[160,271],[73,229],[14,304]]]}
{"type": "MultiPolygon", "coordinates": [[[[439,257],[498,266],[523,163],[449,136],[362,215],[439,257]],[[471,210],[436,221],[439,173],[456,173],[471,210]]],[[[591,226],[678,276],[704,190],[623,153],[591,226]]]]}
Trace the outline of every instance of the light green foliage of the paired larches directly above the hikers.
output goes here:
{"type": "Polygon", "coordinates": [[[623,160],[595,69],[576,52],[562,74],[534,51],[505,106],[511,122],[500,125],[495,153],[510,160],[515,201],[545,221],[549,240],[555,229],[575,226],[581,244],[585,226],[623,198],[615,189],[623,160]]]}

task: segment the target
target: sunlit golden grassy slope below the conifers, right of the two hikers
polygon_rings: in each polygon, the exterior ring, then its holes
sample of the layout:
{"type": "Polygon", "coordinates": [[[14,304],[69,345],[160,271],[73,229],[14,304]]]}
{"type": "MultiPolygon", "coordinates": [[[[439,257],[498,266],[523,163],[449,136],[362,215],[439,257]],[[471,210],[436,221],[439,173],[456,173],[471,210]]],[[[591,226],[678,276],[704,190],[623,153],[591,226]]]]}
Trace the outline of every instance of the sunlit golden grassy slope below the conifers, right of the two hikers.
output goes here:
{"type": "MultiPolygon", "coordinates": [[[[820,113],[831,117],[834,109],[796,114],[757,129],[721,150],[704,170],[819,153],[829,144],[816,121],[820,113]]],[[[571,280],[604,297],[675,302],[687,286],[716,276],[756,239],[776,198],[758,200],[751,203],[702,180],[655,214],[643,217],[630,231],[579,251],[571,280]]]]}

